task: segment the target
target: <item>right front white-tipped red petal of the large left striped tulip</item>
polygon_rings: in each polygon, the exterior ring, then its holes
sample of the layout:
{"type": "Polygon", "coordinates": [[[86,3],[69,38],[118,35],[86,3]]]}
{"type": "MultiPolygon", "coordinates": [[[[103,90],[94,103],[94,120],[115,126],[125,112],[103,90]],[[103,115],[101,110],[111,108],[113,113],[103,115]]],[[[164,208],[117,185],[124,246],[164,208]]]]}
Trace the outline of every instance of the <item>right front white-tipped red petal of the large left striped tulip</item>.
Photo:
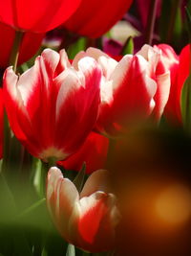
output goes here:
{"type": "Polygon", "coordinates": [[[78,67],[77,73],[67,70],[62,74],[66,77],[56,102],[55,143],[69,154],[81,146],[94,127],[100,101],[101,72],[96,61],[82,58],[78,67]]]}

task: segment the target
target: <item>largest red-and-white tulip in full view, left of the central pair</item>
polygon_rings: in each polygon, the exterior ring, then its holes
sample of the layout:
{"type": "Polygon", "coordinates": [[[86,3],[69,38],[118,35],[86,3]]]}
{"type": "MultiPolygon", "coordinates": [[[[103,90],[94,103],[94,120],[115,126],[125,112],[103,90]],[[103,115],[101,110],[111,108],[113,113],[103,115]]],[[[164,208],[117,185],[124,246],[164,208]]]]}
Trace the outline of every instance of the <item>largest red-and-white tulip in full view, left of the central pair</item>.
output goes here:
{"type": "Polygon", "coordinates": [[[64,50],[37,57],[31,69],[4,75],[5,106],[15,136],[32,153],[63,160],[83,144],[95,126],[100,69],[93,58],[71,65],[64,50]]]}

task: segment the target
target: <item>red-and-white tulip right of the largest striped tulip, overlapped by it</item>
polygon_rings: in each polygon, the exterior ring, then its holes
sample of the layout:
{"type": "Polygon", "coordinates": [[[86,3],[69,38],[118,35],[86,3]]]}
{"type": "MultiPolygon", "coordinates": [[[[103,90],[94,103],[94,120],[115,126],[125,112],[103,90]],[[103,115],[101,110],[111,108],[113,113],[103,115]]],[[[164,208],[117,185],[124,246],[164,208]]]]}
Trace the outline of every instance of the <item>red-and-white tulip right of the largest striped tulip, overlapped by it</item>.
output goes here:
{"type": "Polygon", "coordinates": [[[76,59],[82,56],[96,58],[103,74],[96,130],[116,136],[137,117],[144,119],[152,113],[159,120],[168,100],[170,73],[158,49],[144,45],[137,55],[126,55],[119,62],[94,48],[76,59]]]}

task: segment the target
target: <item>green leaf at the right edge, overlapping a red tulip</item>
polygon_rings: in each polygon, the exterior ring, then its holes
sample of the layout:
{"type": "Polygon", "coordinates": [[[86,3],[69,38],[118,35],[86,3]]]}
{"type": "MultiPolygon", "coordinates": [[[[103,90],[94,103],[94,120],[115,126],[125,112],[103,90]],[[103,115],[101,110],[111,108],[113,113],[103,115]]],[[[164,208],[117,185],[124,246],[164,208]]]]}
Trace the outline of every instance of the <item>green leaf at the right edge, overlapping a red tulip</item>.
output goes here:
{"type": "Polygon", "coordinates": [[[191,132],[191,75],[183,84],[180,107],[183,126],[188,132],[191,132]]]}

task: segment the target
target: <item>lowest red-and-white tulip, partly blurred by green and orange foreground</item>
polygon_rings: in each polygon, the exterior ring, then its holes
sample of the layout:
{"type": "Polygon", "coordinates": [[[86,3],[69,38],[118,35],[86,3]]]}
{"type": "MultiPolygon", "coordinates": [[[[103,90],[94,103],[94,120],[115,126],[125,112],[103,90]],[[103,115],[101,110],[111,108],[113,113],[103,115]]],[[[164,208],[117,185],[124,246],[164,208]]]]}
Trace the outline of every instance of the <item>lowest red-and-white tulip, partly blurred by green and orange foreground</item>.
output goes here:
{"type": "Polygon", "coordinates": [[[82,192],[53,167],[48,173],[47,204],[62,237],[91,252],[115,246],[119,220],[116,197],[108,193],[108,173],[98,170],[87,179],[82,192]]]}

